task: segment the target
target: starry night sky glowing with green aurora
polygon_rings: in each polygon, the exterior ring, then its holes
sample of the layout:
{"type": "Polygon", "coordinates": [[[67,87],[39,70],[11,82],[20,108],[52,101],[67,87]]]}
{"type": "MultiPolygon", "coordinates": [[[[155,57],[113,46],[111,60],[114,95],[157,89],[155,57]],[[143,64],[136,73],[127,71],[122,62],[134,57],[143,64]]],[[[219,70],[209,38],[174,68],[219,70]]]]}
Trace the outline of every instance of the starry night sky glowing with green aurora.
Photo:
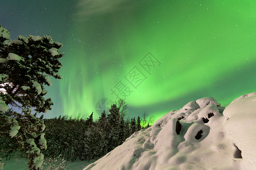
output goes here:
{"type": "Polygon", "coordinates": [[[61,42],[46,118],[97,118],[117,97],[129,117],[256,91],[256,1],[1,1],[0,24],[61,42]],[[105,104],[106,103],[106,104],[105,104]],[[104,105],[105,104],[105,105],[104,105]]]}

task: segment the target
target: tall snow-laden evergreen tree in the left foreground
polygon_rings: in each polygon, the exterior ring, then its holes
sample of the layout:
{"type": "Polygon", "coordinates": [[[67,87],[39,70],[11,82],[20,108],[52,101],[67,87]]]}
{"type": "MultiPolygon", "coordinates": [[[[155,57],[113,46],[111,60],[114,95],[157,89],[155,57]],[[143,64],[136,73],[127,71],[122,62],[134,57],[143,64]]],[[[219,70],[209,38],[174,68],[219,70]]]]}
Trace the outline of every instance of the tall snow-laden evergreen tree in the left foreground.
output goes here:
{"type": "Polygon", "coordinates": [[[44,97],[44,85],[51,86],[50,76],[61,79],[59,58],[63,54],[59,49],[63,45],[50,36],[18,36],[18,40],[10,42],[9,39],[10,32],[0,25],[0,118],[1,127],[6,127],[0,133],[16,138],[27,151],[29,168],[39,169],[44,158],[41,150],[47,148],[45,125],[31,114],[31,108],[43,113],[51,109],[53,103],[44,97]],[[9,107],[21,112],[7,114],[9,107]]]}

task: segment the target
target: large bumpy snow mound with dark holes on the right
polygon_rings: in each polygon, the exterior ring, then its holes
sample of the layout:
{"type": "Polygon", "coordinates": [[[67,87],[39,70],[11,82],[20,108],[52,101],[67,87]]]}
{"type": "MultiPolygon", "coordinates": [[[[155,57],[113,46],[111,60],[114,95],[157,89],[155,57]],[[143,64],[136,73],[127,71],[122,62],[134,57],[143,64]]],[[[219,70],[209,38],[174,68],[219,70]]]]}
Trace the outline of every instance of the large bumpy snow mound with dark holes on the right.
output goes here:
{"type": "Polygon", "coordinates": [[[256,92],[220,107],[212,97],[171,111],[85,169],[255,169],[256,92]]]}

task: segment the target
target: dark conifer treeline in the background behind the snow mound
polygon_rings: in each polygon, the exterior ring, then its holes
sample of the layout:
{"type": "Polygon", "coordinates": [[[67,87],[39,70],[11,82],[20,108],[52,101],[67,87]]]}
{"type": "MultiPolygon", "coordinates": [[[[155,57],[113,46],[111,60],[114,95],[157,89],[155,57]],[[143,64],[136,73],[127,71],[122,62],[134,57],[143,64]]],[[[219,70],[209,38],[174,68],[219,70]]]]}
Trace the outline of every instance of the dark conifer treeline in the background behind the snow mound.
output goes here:
{"type": "MultiPolygon", "coordinates": [[[[105,111],[102,112],[97,121],[93,121],[93,113],[85,119],[67,116],[44,119],[44,137],[47,140],[44,157],[61,156],[67,161],[98,159],[125,142],[135,131],[148,128],[154,122],[152,117],[147,119],[146,113],[142,118],[125,118],[126,107],[125,102],[120,100],[118,104],[111,106],[108,115],[105,111]]],[[[10,158],[20,152],[17,149],[18,143],[13,139],[2,137],[0,141],[0,155],[3,157],[10,158]]],[[[20,156],[26,158],[26,153],[20,152],[20,156]]]]}

